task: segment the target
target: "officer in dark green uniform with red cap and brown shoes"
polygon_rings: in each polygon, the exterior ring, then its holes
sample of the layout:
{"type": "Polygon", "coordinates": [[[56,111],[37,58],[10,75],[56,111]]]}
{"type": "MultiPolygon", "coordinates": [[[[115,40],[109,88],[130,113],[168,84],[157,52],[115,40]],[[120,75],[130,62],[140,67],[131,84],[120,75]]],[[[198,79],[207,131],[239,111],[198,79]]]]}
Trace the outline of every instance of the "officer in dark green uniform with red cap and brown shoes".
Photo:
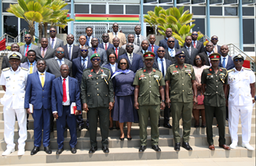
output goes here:
{"type": "Polygon", "coordinates": [[[204,69],[201,83],[204,94],[205,117],[207,122],[207,142],[210,150],[215,150],[213,139],[214,114],[218,121],[219,146],[230,150],[225,144],[225,94],[228,84],[228,72],[225,68],[218,67],[221,55],[212,53],[209,56],[211,67],[204,69]]]}

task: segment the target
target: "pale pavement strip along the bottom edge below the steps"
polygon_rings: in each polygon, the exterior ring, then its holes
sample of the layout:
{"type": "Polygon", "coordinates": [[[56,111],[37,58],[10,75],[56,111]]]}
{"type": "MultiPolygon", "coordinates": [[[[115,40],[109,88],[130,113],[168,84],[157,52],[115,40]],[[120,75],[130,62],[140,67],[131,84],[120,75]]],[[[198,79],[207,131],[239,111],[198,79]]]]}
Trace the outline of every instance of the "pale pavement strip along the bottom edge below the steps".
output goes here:
{"type": "MultiPolygon", "coordinates": [[[[15,164],[16,166],[32,166],[35,164],[15,164]]],[[[36,164],[36,166],[255,166],[255,157],[239,158],[205,158],[205,159],[171,159],[171,160],[152,160],[152,161],[99,161],[99,162],[81,162],[81,163],[53,163],[53,164],[36,164]]]]}

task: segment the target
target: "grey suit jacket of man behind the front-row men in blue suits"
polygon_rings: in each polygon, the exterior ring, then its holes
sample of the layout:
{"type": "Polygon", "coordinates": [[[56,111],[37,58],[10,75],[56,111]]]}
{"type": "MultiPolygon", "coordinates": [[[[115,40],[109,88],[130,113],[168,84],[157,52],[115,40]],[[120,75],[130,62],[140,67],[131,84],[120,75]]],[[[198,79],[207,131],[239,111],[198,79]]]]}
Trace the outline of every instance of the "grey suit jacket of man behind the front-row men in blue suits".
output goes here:
{"type": "MultiPolygon", "coordinates": [[[[69,75],[72,77],[72,63],[71,61],[64,58],[64,64],[67,64],[69,67],[69,75]]],[[[46,60],[46,71],[54,74],[56,78],[60,77],[60,65],[54,58],[46,60]]]]}

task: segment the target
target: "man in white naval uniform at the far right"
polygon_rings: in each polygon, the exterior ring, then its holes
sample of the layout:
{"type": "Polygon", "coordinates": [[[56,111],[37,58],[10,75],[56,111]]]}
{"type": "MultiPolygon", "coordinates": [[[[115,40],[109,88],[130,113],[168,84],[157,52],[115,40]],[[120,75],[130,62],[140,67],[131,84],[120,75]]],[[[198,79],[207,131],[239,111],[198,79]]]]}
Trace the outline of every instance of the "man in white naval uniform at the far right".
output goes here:
{"type": "Polygon", "coordinates": [[[251,114],[255,103],[255,75],[251,69],[243,67],[246,56],[240,53],[232,56],[235,67],[229,70],[229,133],[235,149],[238,142],[238,123],[241,117],[242,146],[254,150],[249,144],[251,139],[251,114]]]}

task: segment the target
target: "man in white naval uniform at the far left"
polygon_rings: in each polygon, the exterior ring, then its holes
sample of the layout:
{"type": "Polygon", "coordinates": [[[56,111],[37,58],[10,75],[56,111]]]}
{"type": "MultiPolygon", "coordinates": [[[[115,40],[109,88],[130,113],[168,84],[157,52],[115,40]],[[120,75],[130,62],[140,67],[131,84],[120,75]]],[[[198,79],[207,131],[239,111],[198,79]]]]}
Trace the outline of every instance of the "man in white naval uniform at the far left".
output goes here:
{"type": "Polygon", "coordinates": [[[27,113],[24,109],[25,85],[27,81],[28,69],[20,67],[21,54],[19,52],[10,52],[8,55],[11,67],[2,70],[0,85],[2,85],[5,95],[1,99],[4,105],[4,138],[7,144],[7,150],[2,156],[8,155],[15,151],[13,143],[15,114],[19,124],[18,155],[25,153],[25,141],[27,139],[27,113]]]}

